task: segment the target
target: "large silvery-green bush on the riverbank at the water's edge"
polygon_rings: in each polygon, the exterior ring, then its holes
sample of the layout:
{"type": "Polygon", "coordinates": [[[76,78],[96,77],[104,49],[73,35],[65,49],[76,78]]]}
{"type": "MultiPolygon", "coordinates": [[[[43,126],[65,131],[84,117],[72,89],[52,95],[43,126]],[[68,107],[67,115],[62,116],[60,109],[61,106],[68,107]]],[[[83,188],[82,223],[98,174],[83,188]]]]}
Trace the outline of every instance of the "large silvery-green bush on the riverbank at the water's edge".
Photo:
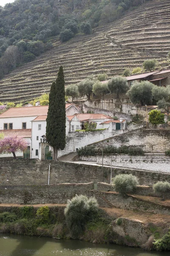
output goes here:
{"type": "Polygon", "coordinates": [[[87,198],[84,195],[76,195],[67,201],[65,208],[65,220],[73,238],[78,238],[85,230],[85,224],[92,221],[98,214],[96,198],[87,198]]]}

